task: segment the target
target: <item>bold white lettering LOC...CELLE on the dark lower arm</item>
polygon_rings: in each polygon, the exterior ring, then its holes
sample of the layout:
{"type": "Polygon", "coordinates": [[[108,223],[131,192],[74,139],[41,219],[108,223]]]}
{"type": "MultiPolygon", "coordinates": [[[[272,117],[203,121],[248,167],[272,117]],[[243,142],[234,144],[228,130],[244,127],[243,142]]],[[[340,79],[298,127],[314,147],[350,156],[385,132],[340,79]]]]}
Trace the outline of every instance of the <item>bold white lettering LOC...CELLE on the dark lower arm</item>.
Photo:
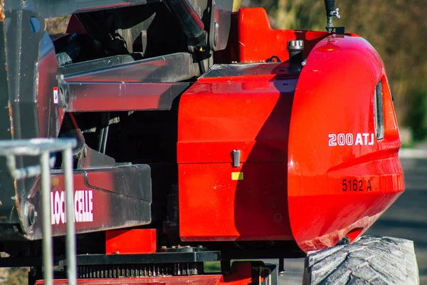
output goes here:
{"type": "MultiPolygon", "coordinates": [[[[77,190],[74,193],[74,222],[93,222],[92,190],[77,190]]],[[[65,192],[51,192],[51,222],[65,224],[65,192]]]]}

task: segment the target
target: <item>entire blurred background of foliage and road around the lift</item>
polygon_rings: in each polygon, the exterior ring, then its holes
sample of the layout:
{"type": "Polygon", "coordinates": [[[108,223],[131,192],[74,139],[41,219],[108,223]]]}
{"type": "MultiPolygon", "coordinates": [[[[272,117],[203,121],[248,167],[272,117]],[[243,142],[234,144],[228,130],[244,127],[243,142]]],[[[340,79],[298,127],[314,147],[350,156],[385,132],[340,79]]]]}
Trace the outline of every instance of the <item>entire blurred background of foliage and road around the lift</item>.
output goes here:
{"type": "MultiPolygon", "coordinates": [[[[322,0],[234,0],[234,10],[261,6],[272,28],[325,31],[322,0]]],[[[427,284],[427,2],[336,0],[335,26],[357,33],[384,60],[402,145],[406,191],[366,234],[414,241],[421,284],[427,284]]],[[[64,32],[68,17],[47,19],[49,33],[64,32]]],[[[301,284],[302,259],[285,261],[280,284],[301,284]]],[[[0,284],[25,284],[28,269],[0,269],[0,284]]]]}

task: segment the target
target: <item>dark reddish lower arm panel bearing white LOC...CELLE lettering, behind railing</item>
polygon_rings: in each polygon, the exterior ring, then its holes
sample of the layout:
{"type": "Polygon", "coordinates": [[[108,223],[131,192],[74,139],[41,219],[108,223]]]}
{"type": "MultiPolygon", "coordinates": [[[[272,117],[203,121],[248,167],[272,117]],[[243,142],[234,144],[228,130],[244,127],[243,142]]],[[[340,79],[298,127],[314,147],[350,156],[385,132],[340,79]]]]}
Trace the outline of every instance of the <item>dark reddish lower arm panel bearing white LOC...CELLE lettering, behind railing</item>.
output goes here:
{"type": "MultiPolygon", "coordinates": [[[[134,180],[131,176],[149,179],[148,165],[132,165],[122,167],[97,167],[96,169],[77,170],[73,174],[73,216],[75,231],[94,232],[141,226],[151,222],[150,204],[151,186],[134,180]],[[91,187],[88,176],[93,184],[102,180],[102,187],[91,187]],[[127,185],[122,181],[126,180],[127,185]],[[136,181],[136,182],[135,182],[136,181]],[[120,185],[119,185],[120,183],[120,185]],[[136,184],[137,183],[137,184],[136,184]],[[120,193],[121,195],[117,195],[120,193]],[[119,207],[120,206],[120,207],[119,207]],[[113,211],[114,209],[114,211],[113,211]]],[[[51,223],[53,236],[65,234],[65,191],[63,174],[54,171],[51,176],[51,223]]],[[[41,205],[40,180],[37,180],[28,200],[36,209],[41,205]]],[[[36,217],[31,232],[26,233],[28,239],[41,239],[40,217],[36,217]]]]}

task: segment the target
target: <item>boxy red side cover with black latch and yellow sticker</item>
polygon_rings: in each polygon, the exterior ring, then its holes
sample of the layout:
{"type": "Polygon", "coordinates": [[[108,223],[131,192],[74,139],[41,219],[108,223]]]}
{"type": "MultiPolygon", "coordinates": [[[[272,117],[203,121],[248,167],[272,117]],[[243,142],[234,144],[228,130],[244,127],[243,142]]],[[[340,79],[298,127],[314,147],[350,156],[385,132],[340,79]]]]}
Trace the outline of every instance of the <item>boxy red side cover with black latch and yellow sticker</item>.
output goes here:
{"type": "Polygon", "coordinates": [[[208,75],[181,97],[179,226],[185,241],[292,239],[286,174],[297,78],[286,74],[287,65],[263,67],[208,75]],[[240,167],[232,166],[233,150],[241,150],[240,167]]]}

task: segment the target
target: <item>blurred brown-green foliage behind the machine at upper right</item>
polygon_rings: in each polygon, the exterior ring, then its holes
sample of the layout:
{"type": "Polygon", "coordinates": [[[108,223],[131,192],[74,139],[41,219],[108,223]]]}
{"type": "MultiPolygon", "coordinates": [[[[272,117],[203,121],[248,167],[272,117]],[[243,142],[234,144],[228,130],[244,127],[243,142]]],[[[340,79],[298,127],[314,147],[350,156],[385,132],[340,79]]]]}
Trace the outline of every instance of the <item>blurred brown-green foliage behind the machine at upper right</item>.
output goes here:
{"type": "MultiPolygon", "coordinates": [[[[238,7],[261,6],[273,28],[325,31],[322,0],[235,0],[238,7]]],[[[413,137],[427,136],[427,5],[416,0],[336,0],[341,19],[336,26],[369,41],[384,60],[399,125],[411,128],[413,137]]]]}

